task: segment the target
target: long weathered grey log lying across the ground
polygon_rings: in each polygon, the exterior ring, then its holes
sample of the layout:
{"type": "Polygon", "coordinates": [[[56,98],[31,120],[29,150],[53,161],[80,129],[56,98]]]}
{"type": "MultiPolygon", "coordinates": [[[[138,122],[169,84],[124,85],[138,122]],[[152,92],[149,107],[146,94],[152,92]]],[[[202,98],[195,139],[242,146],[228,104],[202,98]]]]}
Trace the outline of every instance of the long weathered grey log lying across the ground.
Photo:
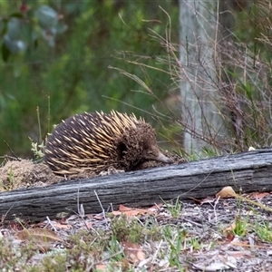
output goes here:
{"type": "Polygon", "coordinates": [[[272,190],[272,150],[259,150],[192,161],[150,170],[139,170],[69,180],[47,187],[18,189],[0,194],[0,215],[5,219],[53,219],[58,213],[78,212],[78,202],[85,213],[101,212],[119,204],[144,207],[180,197],[214,196],[225,186],[237,192],[272,190]],[[96,194],[95,194],[96,192],[96,194]]]}

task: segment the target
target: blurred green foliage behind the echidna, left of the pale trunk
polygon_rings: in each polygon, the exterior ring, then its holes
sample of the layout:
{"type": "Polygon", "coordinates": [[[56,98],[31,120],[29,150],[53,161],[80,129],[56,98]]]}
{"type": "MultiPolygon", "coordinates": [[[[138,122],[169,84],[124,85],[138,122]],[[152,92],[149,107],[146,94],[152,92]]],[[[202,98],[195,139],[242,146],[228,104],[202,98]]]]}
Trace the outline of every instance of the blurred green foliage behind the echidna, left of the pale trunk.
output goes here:
{"type": "Polygon", "coordinates": [[[31,158],[28,137],[44,139],[53,124],[77,112],[135,112],[161,127],[147,112],[159,107],[156,96],[169,96],[170,76],[147,73],[119,53],[158,65],[151,56],[165,48],[151,30],[165,37],[169,26],[160,7],[178,43],[178,1],[1,1],[0,155],[11,155],[6,141],[16,156],[31,158]],[[109,66],[137,75],[154,95],[109,66]]]}

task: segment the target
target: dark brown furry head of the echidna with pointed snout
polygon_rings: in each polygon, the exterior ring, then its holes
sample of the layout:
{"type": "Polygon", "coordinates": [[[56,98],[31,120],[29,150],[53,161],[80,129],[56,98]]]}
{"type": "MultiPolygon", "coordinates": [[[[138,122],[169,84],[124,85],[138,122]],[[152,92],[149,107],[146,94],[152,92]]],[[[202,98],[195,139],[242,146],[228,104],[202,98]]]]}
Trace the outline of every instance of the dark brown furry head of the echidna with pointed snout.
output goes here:
{"type": "Polygon", "coordinates": [[[146,160],[172,162],[164,156],[158,147],[156,133],[148,123],[139,123],[136,128],[124,131],[116,141],[118,160],[125,170],[133,170],[146,160]]]}

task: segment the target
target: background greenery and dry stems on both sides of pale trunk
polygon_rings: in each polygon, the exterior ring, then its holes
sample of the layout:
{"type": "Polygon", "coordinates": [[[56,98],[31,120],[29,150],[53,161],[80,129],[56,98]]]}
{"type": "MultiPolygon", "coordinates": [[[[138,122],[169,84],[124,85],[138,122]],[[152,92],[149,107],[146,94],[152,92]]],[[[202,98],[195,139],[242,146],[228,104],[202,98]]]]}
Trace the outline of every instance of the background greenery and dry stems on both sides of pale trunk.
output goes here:
{"type": "MultiPolygon", "coordinates": [[[[271,7],[231,3],[231,39],[216,44],[214,86],[229,135],[205,141],[245,151],[271,144],[271,7]]],[[[181,147],[178,1],[5,1],[0,8],[0,155],[11,154],[6,141],[31,157],[28,137],[40,142],[74,113],[112,109],[150,121],[160,146],[181,147]]]]}

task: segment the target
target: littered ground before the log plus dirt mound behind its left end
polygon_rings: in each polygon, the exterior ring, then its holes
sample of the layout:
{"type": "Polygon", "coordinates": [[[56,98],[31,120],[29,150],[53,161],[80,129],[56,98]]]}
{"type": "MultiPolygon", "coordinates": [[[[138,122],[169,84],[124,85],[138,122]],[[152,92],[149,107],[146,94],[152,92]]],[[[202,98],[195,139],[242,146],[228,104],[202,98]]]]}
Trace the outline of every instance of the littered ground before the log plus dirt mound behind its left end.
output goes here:
{"type": "MultiPolygon", "coordinates": [[[[0,169],[5,189],[63,180],[43,163],[8,163],[0,169]]],[[[80,214],[41,222],[2,215],[0,270],[271,271],[272,215],[265,208],[272,195],[248,198],[174,199],[100,214],[85,214],[82,207],[80,214]]]]}

